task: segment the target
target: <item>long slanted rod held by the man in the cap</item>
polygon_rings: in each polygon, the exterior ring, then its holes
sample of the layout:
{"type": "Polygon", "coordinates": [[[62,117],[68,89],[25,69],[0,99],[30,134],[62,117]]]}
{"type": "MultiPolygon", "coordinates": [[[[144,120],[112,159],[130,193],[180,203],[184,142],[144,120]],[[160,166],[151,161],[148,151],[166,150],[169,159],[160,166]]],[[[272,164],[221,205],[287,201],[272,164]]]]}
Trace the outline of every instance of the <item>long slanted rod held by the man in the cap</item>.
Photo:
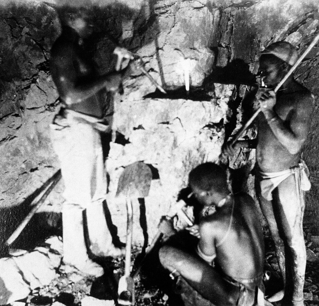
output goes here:
{"type": "MultiPolygon", "coordinates": [[[[276,93],[278,89],[286,82],[286,80],[289,78],[289,76],[294,72],[294,70],[299,66],[301,61],[306,57],[306,55],[310,52],[310,50],[315,46],[315,44],[319,41],[319,34],[314,38],[313,42],[309,45],[309,47],[306,49],[305,52],[300,56],[300,58],[296,61],[296,63],[293,65],[293,67],[290,68],[290,70],[287,72],[287,74],[284,76],[284,78],[278,83],[276,88],[274,89],[274,92],[276,93]]],[[[234,140],[231,142],[231,146],[233,146],[237,140],[244,134],[245,130],[248,129],[248,127],[251,125],[251,123],[255,120],[257,115],[261,112],[261,108],[258,108],[256,112],[251,116],[251,118],[246,122],[244,126],[241,127],[241,129],[237,132],[234,140]]]]}

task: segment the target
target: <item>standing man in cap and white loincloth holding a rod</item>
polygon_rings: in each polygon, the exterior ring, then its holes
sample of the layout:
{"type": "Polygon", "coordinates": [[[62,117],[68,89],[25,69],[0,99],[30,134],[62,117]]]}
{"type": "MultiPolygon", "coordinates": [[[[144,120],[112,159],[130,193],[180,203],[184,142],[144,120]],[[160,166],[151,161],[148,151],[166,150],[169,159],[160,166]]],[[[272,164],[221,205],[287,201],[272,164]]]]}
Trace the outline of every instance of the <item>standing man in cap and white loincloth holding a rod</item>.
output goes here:
{"type": "MultiPolygon", "coordinates": [[[[306,248],[303,237],[304,190],[310,189],[306,165],[300,160],[313,110],[313,97],[292,76],[277,94],[271,89],[283,79],[298,57],[287,42],[268,46],[259,72],[268,89],[260,89],[258,137],[238,141],[256,148],[256,194],[276,247],[285,283],[282,305],[303,305],[306,248]]],[[[229,149],[229,145],[228,145],[229,149]]]]}

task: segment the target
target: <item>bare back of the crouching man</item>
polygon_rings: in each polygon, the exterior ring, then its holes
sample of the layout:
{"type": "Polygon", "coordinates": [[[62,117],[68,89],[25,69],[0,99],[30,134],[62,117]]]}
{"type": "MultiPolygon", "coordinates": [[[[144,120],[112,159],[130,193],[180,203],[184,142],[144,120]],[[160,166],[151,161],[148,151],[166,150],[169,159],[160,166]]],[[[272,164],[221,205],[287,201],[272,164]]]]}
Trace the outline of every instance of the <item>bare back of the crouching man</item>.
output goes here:
{"type": "Polygon", "coordinates": [[[248,194],[235,195],[230,209],[222,207],[205,218],[200,224],[201,234],[203,226],[210,231],[215,244],[217,268],[238,281],[262,275],[262,226],[255,203],[248,194]]]}

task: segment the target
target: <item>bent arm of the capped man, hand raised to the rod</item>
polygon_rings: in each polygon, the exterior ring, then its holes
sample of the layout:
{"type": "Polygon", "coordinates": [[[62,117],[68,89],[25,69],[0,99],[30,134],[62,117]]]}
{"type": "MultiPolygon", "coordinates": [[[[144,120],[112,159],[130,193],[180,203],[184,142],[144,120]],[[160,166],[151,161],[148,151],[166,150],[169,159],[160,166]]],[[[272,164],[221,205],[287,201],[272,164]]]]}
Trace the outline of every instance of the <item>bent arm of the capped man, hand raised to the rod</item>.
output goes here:
{"type": "Polygon", "coordinates": [[[273,109],[265,112],[272,132],[291,154],[298,153],[306,140],[312,113],[312,98],[309,94],[298,94],[295,99],[296,106],[288,113],[286,121],[283,121],[273,109]]]}

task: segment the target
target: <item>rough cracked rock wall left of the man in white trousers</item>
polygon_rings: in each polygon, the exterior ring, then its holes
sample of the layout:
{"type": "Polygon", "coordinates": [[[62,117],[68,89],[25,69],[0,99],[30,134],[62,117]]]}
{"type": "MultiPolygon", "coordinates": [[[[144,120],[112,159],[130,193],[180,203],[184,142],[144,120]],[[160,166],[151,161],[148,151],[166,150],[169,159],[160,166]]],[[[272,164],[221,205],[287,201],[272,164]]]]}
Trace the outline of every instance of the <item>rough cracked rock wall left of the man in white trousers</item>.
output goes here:
{"type": "Polygon", "coordinates": [[[22,202],[58,167],[48,123],[58,98],[49,51],[59,23],[44,4],[1,4],[0,13],[0,205],[8,207],[22,202]]]}

